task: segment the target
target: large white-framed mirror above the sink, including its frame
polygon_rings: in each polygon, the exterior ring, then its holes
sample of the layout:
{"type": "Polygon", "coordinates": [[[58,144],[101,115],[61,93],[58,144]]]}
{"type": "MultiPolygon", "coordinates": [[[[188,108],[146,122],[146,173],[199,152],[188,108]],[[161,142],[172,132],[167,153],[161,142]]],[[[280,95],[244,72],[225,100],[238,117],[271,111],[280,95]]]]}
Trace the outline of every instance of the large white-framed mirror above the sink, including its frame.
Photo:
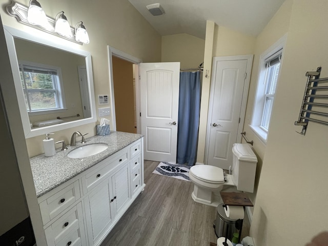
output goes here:
{"type": "Polygon", "coordinates": [[[96,121],[89,52],[34,29],[5,35],[26,138],[96,121]]]}

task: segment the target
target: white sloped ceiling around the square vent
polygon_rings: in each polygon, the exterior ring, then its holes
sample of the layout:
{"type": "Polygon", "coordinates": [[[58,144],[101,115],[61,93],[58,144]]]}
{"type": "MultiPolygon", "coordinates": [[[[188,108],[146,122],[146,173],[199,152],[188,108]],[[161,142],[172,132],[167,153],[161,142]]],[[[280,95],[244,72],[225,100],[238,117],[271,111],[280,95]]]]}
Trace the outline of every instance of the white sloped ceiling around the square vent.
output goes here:
{"type": "Polygon", "coordinates": [[[258,35],[285,0],[129,0],[162,36],[188,33],[205,38],[206,20],[258,35]],[[160,3],[165,14],[153,16],[147,5],[160,3]]]}

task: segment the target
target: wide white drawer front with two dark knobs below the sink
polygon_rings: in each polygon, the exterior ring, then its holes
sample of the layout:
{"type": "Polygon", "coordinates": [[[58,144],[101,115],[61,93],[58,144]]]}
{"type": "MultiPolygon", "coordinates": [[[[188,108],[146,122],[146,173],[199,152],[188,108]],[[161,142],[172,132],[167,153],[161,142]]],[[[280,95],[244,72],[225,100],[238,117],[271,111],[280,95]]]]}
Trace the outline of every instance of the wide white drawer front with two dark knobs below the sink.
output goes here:
{"type": "Polygon", "coordinates": [[[101,181],[105,180],[110,172],[116,168],[118,165],[126,163],[128,161],[128,151],[124,150],[119,153],[116,157],[106,159],[105,166],[101,165],[101,167],[93,172],[90,172],[86,175],[86,178],[83,182],[85,182],[86,190],[84,193],[91,191],[94,187],[96,187],[101,181]]]}

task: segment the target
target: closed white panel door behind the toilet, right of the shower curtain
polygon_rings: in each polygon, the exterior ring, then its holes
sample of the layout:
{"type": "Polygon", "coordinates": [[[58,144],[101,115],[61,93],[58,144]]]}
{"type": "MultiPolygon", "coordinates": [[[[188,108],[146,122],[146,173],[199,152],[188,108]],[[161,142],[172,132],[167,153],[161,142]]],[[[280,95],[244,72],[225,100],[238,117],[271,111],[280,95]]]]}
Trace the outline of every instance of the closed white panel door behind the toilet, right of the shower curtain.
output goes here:
{"type": "MultiPolygon", "coordinates": [[[[242,103],[248,93],[244,87],[248,59],[213,58],[213,74],[208,120],[208,165],[222,169],[232,166],[232,146],[240,139],[239,121],[242,103]]],[[[250,66],[250,65],[249,65],[250,66]]],[[[244,114],[244,110],[243,110],[244,114]]],[[[241,124],[243,124],[241,122],[241,124]]]]}

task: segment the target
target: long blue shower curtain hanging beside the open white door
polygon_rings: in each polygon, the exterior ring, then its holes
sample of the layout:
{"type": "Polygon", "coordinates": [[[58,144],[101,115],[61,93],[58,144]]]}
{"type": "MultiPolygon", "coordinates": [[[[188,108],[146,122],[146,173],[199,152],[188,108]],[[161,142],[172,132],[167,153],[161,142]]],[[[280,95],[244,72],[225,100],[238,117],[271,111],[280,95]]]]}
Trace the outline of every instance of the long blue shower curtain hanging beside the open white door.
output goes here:
{"type": "Polygon", "coordinates": [[[198,140],[200,72],[180,72],[179,90],[177,163],[193,166],[198,140]]]}

